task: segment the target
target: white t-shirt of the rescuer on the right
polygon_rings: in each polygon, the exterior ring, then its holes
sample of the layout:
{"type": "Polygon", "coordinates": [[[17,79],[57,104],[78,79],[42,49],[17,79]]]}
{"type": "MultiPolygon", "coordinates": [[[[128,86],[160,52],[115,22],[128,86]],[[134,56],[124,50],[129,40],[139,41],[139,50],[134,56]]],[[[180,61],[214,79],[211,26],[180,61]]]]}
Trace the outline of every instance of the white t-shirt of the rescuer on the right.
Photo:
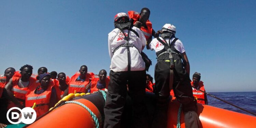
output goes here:
{"type": "MultiPolygon", "coordinates": [[[[165,42],[165,40],[163,40],[161,37],[159,37],[163,42],[165,42]]],[[[174,40],[174,38],[171,39],[170,43],[174,40]]],[[[167,44],[169,45],[169,39],[166,39],[167,44]]],[[[175,43],[174,43],[174,47],[177,51],[179,51],[180,53],[184,53],[185,52],[185,48],[182,44],[182,42],[178,39],[175,43]]],[[[163,48],[165,48],[165,46],[163,46],[156,38],[153,39],[150,43],[150,49],[151,50],[155,50],[156,52],[162,50],[163,48]]]]}

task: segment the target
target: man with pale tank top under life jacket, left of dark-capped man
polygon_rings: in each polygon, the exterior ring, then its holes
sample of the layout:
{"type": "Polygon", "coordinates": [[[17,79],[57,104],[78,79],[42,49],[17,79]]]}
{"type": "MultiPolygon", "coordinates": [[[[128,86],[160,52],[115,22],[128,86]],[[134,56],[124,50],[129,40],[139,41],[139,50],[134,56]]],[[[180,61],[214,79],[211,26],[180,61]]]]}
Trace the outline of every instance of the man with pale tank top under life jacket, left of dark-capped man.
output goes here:
{"type": "Polygon", "coordinates": [[[38,83],[31,77],[33,67],[24,65],[20,69],[20,73],[15,73],[9,82],[5,85],[5,89],[10,97],[8,109],[12,107],[23,108],[25,106],[26,94],[34,90],[38,83]]]}

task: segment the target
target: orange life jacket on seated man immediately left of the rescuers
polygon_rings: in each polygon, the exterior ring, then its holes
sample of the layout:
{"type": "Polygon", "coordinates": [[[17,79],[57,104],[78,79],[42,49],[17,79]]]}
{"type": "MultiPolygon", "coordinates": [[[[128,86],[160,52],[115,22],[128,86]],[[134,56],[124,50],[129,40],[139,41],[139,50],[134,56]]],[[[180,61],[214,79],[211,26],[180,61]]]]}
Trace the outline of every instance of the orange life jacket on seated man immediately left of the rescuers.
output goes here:
{"type": "Polygon", "coordinates": [[[109,76],[107,76],[106,79],[105,79],[106,87],[103,88],[103,89],[98,89],[97,88],[98,81],[99,81],[99,76],[98,75],[91,76],[91,93],[94,93],[95,91],[98,91],[98,90],[108,91],[108,86],[109,86],[109,81],[110,81],[109,76]]]}

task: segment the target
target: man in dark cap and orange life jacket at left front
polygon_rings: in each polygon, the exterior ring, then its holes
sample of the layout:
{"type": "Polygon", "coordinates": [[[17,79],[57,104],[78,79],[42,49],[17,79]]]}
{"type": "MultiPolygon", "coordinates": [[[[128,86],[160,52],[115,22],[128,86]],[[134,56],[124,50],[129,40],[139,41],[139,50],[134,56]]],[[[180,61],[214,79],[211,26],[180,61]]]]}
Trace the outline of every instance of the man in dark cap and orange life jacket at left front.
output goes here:
{"type": "Polygon", "coordinates": [[[38,80],[39,86],[27,94],[25,102],[26,107],[32,107],[35,103],[34,110],[37,113],[37,117],[54,107],[58,101],[51,75],[48,73],[40,74],[38,80]]]}

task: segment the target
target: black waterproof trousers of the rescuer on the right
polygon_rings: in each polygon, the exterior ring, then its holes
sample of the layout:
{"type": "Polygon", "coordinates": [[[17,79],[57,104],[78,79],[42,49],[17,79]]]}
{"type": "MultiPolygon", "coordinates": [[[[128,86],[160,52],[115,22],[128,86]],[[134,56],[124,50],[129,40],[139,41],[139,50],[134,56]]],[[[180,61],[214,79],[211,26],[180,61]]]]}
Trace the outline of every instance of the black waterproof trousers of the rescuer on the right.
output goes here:
{"type": "MultiPolygon", "coordinates": [[[[170,62],[169,54],[161,55],[155,66],[155,94],[157,97],[156,114],[152,128],[167,127],[168,97],[170,96],[170,62]],[[167,60],[167,61],[166,61],[167,60]]],[[[198,128],[197,102],[194,99],[190,84],[189,74],[183,68],[179,56],[174,56],[175,68],[173,79],[173,91],[177,100],[182,103],[186,128],[198,128]]]]}

